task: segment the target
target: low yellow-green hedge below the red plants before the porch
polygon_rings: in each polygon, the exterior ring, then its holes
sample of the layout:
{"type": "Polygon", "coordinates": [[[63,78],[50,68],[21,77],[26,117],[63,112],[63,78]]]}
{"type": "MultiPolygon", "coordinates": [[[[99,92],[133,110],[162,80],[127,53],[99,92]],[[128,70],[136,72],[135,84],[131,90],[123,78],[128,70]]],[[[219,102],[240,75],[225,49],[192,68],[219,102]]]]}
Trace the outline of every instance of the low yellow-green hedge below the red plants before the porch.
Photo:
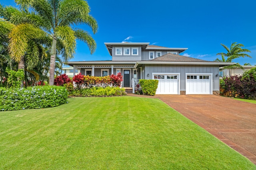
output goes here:
{"type": "Polygon", "coordinates": [[[124,88],[119,88],[119,87],[84,88],[84,89],[81,89],[80,94],[82,94],[81,96],[84,96],[84,97],[87,97],[87,96],[123,96],[123,95],[126,95],[125,89],[124,88]]]}

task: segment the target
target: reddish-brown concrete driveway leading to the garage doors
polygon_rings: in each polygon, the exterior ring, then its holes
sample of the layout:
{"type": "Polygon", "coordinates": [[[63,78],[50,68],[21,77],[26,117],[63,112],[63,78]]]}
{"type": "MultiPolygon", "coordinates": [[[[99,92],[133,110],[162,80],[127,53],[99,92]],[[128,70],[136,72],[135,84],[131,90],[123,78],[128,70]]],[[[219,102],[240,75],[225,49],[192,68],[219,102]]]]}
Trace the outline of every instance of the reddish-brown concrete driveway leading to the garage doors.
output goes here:
{"type": "Polygon", "coordinates": [[[256,104],[214,95],[153,98],[159,98],[256,164],[256,104]]]}

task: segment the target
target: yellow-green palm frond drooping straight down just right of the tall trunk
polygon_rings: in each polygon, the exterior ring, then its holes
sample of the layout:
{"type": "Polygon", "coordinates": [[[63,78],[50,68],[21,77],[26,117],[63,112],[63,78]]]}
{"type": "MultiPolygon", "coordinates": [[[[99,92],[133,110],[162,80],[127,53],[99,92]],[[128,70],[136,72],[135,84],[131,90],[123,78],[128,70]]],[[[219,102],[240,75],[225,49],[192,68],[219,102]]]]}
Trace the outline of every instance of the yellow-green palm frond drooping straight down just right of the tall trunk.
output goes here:
{"type": "Polygon", "coordinates": [[[72,59],[76,50],[76,36],[74,30],[69,26],[59,26],[55,31],[65,49],[66,58],[64,58],[64,60],[72,59]]]}

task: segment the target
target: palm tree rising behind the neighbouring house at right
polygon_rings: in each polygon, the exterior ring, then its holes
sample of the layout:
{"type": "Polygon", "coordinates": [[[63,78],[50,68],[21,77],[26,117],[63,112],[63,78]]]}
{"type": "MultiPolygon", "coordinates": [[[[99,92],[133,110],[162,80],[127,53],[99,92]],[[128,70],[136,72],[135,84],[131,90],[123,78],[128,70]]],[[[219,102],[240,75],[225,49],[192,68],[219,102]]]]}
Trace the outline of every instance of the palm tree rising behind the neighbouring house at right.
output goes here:
{"type": "MultiPolygon", "coordinates": [[[[239,57],[250,57],[252,58],[250,55],[246,54],[246,53],[250,53],[251,51],[248,49],[242,49],[242,47],[244,47],[244,45],[242,44],[237,44],[232,43],[230,48],[228,48],[226,45],[221,44],[227,51],[227,53],[217,53],[216,55],[221,55],[222,59],[216,59],[215,61],[219,61],[219,62],[228,62],[231,63],[233,62],[234,59],[237,59],[239,57]],[[225,57],[227,57],[227,59],[225,59],[225,57]]],[[[230,65],[230,66],[225,66],[223,67],[225,68],[242,68],[243,67],[239,64],[236,63],[234,65],[230,65]]]]}

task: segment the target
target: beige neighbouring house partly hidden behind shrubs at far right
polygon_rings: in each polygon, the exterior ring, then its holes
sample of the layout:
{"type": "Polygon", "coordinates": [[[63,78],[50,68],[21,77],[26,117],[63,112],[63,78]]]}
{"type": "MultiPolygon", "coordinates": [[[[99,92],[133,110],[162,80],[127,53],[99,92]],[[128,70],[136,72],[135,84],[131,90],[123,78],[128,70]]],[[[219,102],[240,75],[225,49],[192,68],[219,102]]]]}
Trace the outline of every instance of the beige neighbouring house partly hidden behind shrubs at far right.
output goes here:
{"type": "Polygon", "coordinates": [[[220,67],[220,78],[223,78],[223,77],[230,77],[230,76],[235,76],[235,75],[238,75],[238,76],[241,76],[244,71],[246,70],[250,70],[251,68],[254,68],[256,66],[242,66],[244,68],[244,70],[242,68],[226,68],[226,69],[223,69],[222,67],[220,67]]]}

